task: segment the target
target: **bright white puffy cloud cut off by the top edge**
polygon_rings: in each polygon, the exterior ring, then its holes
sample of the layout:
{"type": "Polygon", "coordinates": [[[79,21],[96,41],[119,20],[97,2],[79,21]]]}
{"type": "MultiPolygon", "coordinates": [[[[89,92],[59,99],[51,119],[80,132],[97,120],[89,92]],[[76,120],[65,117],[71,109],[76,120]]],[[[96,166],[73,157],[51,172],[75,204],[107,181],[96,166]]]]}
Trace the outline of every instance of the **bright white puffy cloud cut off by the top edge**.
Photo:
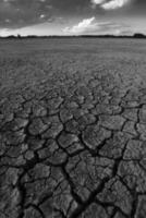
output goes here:
{"type": "Polygon", "coordinates": [[[115,10],[130,3],[131,0],[92,0],[95,5],[100,5],[105,10],[115,10]]]}

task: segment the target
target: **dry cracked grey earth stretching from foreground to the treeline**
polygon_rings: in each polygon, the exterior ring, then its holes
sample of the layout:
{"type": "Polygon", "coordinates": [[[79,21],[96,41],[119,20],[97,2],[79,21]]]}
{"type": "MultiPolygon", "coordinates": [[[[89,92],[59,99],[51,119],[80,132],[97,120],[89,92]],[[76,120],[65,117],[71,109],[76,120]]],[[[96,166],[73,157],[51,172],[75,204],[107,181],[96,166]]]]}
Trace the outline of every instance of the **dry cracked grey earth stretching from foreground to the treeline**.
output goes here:
{"type": "Polygon", "coordinates": [[[145,218],[146,43],[58,40],[0,55],[0,218],[145,218]]]}

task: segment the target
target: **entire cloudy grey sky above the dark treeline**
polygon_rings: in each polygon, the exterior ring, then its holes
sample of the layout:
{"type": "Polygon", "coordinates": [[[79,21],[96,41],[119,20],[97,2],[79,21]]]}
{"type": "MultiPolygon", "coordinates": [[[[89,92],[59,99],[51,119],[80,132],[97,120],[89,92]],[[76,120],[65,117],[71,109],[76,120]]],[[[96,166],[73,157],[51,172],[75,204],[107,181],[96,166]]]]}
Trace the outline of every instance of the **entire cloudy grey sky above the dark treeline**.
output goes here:
{"type": "Polygon", "coordinates": [[[146,34],[146,0],[0,0],[0,36],[146,34]]]}

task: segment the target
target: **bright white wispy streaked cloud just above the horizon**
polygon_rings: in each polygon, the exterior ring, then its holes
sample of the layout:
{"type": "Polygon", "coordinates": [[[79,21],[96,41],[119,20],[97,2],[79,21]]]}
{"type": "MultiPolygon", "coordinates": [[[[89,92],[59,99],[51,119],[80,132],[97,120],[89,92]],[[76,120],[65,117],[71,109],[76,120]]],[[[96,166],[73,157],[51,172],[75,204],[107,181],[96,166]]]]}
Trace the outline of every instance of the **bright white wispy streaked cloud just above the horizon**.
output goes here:
{"type": "Polygon", "coordinates": [[[113,22],[97,22],[96,17],[84,19],[78,24],[63,28],[63,33],[68,35],[100,35],[100,34],[120,34],[129,29],[125,24],[113,22]]]}

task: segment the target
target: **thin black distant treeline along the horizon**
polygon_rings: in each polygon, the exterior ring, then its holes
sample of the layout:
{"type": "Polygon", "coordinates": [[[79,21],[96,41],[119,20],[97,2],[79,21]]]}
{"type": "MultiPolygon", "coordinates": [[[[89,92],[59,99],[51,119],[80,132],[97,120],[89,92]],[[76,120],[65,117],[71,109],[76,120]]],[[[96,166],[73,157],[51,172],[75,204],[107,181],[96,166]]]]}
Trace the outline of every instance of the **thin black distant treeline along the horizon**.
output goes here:
{"type": "Polygon", "coordinates": [[[5,36],[2,37],[0,36],[0,39],[29,39],[29,38],[146,38],[146,35],[141,34],[141,33],[135,33],[134,35],[130,36],[130,35],[73,35],[73,36],[57,36],[57,35],[52,35],[52,36],[36,36],[36,35],[28,35],[28,36],[5,36]]]}

